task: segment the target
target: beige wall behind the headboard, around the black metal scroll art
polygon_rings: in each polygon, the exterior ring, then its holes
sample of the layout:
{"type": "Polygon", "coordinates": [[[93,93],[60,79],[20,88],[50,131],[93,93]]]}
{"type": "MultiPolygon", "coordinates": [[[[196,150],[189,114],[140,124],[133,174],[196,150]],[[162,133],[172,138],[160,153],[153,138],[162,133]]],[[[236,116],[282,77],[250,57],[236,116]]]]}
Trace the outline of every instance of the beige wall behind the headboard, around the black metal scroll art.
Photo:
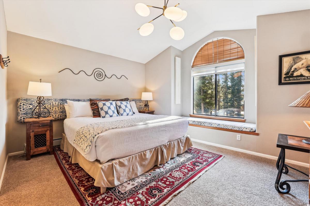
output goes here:
{"type": "MultiPolygon", "coordinates": [[[[19,97],[27,95],[29,81],[50,82],[52,97],[59,98],[141,98],[145,89],[145,64],[62,45],[14,32],[8,32],[8,53],[11,63],[8,69],[8,152],[23,150],[26,141],[25,124],[16,121],[19,97]],[[90,74],[100,67],[108,76],[125,75],[126,78],[96,81],[84,73],[73,75],[70,68],[90,74]]],[[[63,132],[63,120],[54,121],[54,139],[63,132]]]]}

